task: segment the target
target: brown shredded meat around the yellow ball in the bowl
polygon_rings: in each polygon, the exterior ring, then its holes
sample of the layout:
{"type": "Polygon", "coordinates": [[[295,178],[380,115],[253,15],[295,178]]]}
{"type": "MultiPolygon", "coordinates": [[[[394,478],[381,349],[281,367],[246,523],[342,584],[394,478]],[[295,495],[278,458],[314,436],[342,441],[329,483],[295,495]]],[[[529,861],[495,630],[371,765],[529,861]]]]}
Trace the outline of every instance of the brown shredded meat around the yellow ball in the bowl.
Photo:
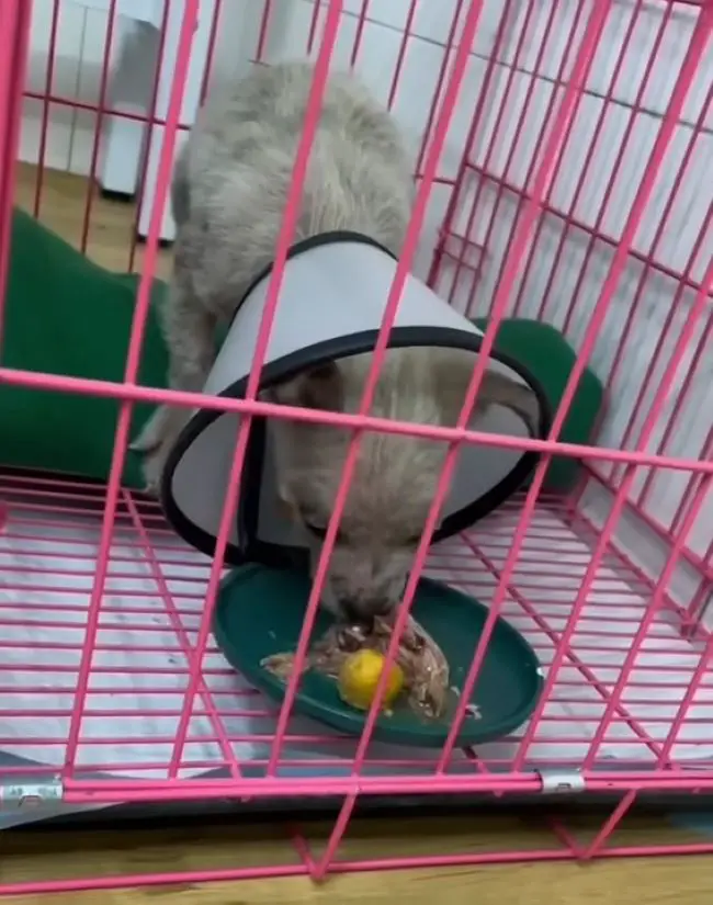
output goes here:
{"type": "MultiPolygon", "coordinates": [[[[317,641],[305,658],[305,670],[314,669],[337,678],[344,659],[356,651],[370,648],[386,654],[393,625],[375,619],[371,631],[361,625],[335,625],[317,641]]],[[[396,661],[404,671],[404,685],[410,708],[435,719],[445,710],[449,692],[449,665],[441,648],[426,630],[409,616],[401,636],[396,661]]],[[[294,654],[265,657],[262,666],[286,681],[294,665],[294,654]]]]}

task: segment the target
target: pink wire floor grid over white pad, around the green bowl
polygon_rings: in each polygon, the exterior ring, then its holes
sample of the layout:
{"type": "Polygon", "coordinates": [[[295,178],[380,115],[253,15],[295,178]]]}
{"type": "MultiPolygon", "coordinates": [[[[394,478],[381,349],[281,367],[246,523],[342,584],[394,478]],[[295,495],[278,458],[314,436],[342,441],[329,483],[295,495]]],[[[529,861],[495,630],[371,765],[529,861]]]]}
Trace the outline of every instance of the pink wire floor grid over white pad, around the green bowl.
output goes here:
{"type": "MultiPolygon", "coordinates": [[[[0,476],[0,501],[7,508],[0,528],[0,751],[34,761],[37,771],[66,766],[102,500],[103,489],[95,486],[0,476]]],[[[514,500],[440,545],[429,574],[487,604],[518,518],[514,500]]],[[[545,671],[595,540],[586,516],[557,499],[540,506],[529,529],[502,614],[530,641],[545,671]]],[[[123,491],[73,778],[97,771],[167,777],[207,577],[208,561],[171,532],[158,507],[123,491]]],[[[609,769],[656,763],[700,657],[700,642],[682,637],[676,616],[666,612],[647,634],[601,745],[596,753],[590,747],[650,593],[647,580],[611,548],[542,719],[527,738],[525,769],[576,767],[588,755],[590,766],[609,769]]],[[[247,686],[211,642],[179,776],[225,768],[227,750],[245,777],[262,774],[275,720],[274,704],[247,686]]],[[[507,770],[527,733],[523,726],[501,742],[456,753],[451,770],[472,770],[474,758],[482,769],[507,770]]],[[[354,750],[354,739],[293,719],[281,774],[341,774],[354,750]]],[[[366,771],[422,774],[437,758],[438,751],[373,744],[366,771]]],[[[669,760],[713,762],[710,671],[678,728],[669,760]]]]}

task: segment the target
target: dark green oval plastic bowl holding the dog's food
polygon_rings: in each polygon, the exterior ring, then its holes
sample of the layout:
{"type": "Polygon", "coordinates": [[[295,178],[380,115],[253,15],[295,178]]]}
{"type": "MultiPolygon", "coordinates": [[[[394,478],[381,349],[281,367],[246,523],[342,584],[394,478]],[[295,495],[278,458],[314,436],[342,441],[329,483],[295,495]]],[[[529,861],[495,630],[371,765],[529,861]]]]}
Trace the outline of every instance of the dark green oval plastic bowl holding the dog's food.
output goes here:
{"type": "MultiPolygon", "coordinates": [[[[271,654],[296,649],[309,589],[307,575],[254,564],[235,569],[220,586],[213,620],[218,647],[231,666],[275,701],[283,700],[286,686],[260,664],[271,654]]],[[[411,612],[440,645],[451,667],[451,685],[460,690],[487,608],[440,581],[422,578],[411,612]]],[[[332,622],[320,610],[313,638],[321,636],[332,622]]],[[[463,720],[459,746],[493,742],[517,729],[534,710],[542,685],[542,669],[532,647],[498,619],[471,697],[480,719],[463,720]]],[[[455,695],[453,699],[455,705],[455,695]]],[[[294,712],[348,735],[360,735],[364,726],[365,714],[341,700],[333,679],[312,671],[302,678],[294,712]]],[[[397,703],[391,715],[380,715],[373,737],[396,745],[441,747],[450,723],[448,713],[440,720],[426,720],[405,703],[397,703]]]]}

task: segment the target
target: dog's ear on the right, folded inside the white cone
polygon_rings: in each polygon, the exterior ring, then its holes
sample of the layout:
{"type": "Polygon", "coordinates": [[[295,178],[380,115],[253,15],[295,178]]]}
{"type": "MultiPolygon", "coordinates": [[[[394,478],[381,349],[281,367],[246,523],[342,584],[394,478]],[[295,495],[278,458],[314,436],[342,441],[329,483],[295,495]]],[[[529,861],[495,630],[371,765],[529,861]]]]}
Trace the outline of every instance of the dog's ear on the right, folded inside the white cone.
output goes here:
{"type": "MultiPolygon", "coordinates": [[[[459,419],[475,363],[473,353],[460,350],[444,350],[437,361],[433,370],[435,394],[446,426],[455,425],[459,419]]],[[[475,411],[485,414],[494,405],[503,406],[519,415],[531,437],[539,434],[540,404],[535,394],[529,386],[488,370],[480,382],[475,411]]]]}

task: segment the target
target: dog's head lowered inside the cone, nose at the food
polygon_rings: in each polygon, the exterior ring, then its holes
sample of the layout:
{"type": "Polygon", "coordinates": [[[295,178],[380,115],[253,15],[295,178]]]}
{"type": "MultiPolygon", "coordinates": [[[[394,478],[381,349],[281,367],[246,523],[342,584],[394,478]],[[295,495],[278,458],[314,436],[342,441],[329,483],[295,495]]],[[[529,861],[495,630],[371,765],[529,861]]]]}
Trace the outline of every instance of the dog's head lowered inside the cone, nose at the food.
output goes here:
{"type": "MultiPolygon", "coordinates": [[[[273,388],[273,401],[335,412],[355,412],[371,355],[328,363],[273,388]]],[[[389,350],[380,375],[373,416],[453,426],[475,359],[472,353],[389,350]]],[[[534,421],[530,391],[488,373],[478,408],[494,403],[534,421]]],[[[279,493],[310,539],[313,573],[333,510],[351,432],[328,425],[276,419],[279,493]]],[[[339,534],[329,561],[322,602],[338,618],[367,621],[399,602],[435,494],[446,444],[366,431],[362,435],[339,534]]]]}

